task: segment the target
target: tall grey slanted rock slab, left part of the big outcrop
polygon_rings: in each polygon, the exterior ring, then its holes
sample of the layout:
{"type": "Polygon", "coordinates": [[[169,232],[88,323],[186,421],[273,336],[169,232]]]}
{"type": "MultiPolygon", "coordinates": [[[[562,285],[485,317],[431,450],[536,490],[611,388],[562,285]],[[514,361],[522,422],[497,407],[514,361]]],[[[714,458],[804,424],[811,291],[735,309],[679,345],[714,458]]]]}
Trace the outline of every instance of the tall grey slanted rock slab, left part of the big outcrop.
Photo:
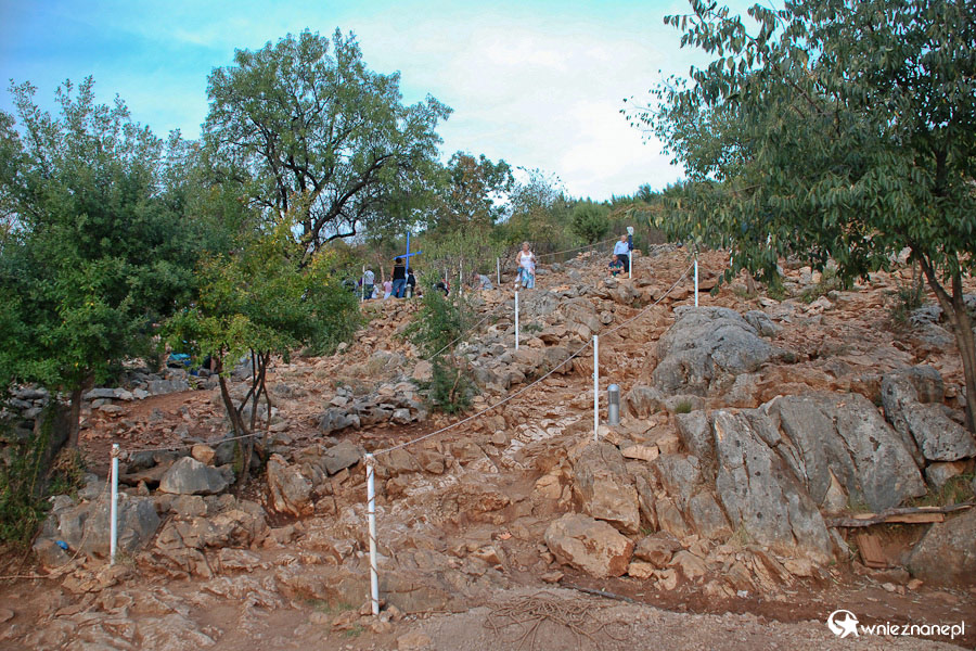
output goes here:
{"type": "MultiPolygon", "coordinates": [[[[761,417],[761,414],[754,414],[761,417]]],[[[826,563],[831,537],[820,511],[783,459],[756,433],[747,413],[714,413],[716,489],[732,528],[785,556],[826,563]]]]}

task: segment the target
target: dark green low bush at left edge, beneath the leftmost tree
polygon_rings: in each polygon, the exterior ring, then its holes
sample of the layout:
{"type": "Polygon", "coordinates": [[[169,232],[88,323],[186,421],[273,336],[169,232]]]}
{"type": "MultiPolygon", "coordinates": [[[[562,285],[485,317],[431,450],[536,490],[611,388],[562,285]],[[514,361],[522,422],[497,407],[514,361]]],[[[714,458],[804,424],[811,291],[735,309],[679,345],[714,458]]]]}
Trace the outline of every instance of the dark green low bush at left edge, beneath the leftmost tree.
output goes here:
{"type": "Polygon", "coordinates": [[[39,417],[39,432],[21,437],[9,421],[0,422],[0,442],[9,450],[0,462],[0,544],[17,549],[30,546],[50,507],[49,495],[72,493],[81,487],[84,464],[77,449],[62,450],[51,468],[53,419],[49,407],[39,417]]]}

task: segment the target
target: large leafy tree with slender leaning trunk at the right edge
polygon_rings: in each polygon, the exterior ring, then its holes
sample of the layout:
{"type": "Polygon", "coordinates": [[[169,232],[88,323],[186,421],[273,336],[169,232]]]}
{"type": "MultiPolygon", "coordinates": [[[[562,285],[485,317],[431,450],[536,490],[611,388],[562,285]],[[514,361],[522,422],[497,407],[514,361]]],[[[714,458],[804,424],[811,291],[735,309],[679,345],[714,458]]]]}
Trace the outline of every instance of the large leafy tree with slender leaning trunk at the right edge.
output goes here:
{"type": "Polygon", "coordinates": [[[963,302],[976,266],[976,4],[789,1],[752,8],[750,23],[691,7],[665,21],[716,59],[630,113],[689,170],[662,226],[731,246],[730,275],[774,278],[796,254],[835,260],[849,282],[908,248],[955,334],[976,430],[963,302]]]}

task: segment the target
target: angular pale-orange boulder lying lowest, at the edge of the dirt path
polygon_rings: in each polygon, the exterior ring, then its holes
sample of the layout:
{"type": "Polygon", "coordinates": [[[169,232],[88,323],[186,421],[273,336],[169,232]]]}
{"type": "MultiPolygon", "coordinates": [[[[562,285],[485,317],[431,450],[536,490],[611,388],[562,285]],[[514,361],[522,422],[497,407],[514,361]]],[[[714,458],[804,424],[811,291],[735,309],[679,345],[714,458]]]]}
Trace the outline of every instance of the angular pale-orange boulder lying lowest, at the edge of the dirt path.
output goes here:
{"type": "Polygon", "coordinates": [[[627,572],[633,542],[605,522],[566,513],[545,529],[545,545],[561,563],[605,578],[627,572]]]}

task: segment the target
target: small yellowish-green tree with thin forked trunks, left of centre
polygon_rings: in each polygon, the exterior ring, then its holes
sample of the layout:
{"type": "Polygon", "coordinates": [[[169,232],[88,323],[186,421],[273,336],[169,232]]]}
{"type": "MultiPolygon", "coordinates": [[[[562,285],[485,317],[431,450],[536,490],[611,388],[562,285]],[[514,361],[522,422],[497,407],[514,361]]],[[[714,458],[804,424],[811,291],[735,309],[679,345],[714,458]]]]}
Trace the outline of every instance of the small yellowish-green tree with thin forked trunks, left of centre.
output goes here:
{"type": "Polygon", "coordinates": [[[262,400],[266,430],[270,426],[266,383],[271,357],[287,360],[298,347],[349,332],[359,323],[356,296],[342,289],[328,253],[299,269],[304,247],[295,241],[295,222],[281,219],[261,227],[256,215],[244,213],[255,221],[242,225],[232,252],[202,261],[198,295],[166,327],[171,345],[189,345],[197,358],[209,356],[216,362],[228,418],[242,437],[239,486],[246,482],[262,400]],[[235,403],[227,378],[242,359],[252,363],[251,386],[235,403]]]}

